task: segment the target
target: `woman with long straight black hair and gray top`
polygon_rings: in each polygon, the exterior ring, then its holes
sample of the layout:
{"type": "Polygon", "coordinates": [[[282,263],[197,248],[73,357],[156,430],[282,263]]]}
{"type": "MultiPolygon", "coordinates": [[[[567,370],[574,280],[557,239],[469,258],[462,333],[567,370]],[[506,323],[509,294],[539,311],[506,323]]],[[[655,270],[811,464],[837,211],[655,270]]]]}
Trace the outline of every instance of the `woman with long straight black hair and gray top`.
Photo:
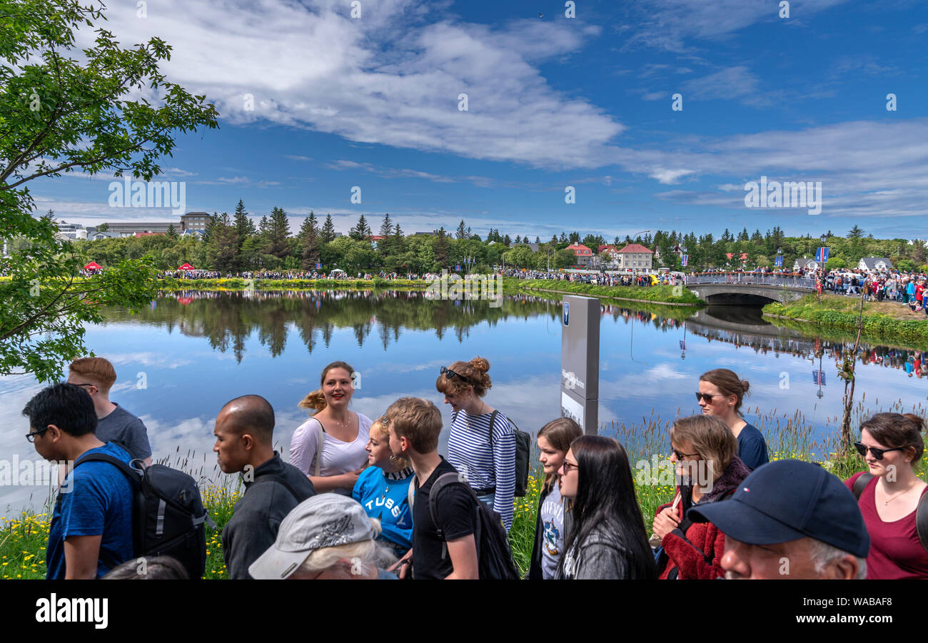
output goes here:
{"type": "Polygon", "coordinates": [[[561,495],[574,501],[574,525],[556,578],[653,579],[654,557],[622,444],[582,435],[558,472],[561,495]]]}

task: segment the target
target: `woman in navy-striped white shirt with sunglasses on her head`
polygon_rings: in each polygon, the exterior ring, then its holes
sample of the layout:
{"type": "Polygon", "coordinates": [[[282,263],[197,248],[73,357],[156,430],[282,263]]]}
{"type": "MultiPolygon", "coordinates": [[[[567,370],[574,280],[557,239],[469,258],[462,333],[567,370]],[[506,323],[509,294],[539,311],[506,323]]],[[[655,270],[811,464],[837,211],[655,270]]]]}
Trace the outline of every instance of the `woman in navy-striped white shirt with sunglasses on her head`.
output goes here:
{"type": "Polygon", "coordinates": [[[494,416],[496,409],[481,399],[491,386],[489,370],[483,357],[455,362],[442,367],[435,388],[452,409],[448,462],[467,478],[477,497],[503,517],[508,532],[516,490],[516,437],[506,414],[494,416]]]}

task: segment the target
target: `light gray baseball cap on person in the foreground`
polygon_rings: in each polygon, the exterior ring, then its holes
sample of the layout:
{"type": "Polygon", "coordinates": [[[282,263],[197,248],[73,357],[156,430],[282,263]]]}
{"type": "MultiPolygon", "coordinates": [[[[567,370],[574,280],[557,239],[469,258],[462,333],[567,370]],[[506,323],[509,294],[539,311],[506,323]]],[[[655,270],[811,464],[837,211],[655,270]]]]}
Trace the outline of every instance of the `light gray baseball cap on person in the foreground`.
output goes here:
{"type": "Polygon", "coordinates": [[[277,540],[248,572],[252,578],[287,578],[316,549],[348,545],[376,537],[364,508],[354,498],[318,494],[303,500],[280,523],[277,540]]]}

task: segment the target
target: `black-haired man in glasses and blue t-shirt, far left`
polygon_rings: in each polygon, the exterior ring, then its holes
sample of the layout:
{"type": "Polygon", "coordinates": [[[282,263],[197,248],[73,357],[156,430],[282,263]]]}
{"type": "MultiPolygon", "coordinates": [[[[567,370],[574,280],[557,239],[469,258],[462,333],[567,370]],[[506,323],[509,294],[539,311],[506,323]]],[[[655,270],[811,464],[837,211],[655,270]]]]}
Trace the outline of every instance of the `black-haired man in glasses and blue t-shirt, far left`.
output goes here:
{"type": "Polygon", "coordinates": [[[121,446],[97,440],[97,412],[83,389],[55,384],[38,392],[22,409],[29,418],[27,439],[35,452],[69,470],[60,485],[45,550],[46,578],[100,578],[115,563],[133,556],[133,485],[106,462],[74,463],[105,455],[128,464],[121,446]],[[101,555],[109,552],[110,556],[101,555]]]}

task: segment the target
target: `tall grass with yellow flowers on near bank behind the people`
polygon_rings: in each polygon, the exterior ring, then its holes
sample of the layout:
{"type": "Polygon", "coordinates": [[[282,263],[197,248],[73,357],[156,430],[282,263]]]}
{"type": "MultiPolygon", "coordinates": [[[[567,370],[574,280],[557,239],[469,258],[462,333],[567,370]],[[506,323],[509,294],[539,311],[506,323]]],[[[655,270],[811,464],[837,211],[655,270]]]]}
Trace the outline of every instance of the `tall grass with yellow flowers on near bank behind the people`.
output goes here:
{"type": "MultiPolygon", "coordinates": [[[[875,410],[865,407],[865,396],[861,396],[855,409],[853,426],[859,426],[863,418],[869,417],[875,410]]],[[[928,409],[922,405],[903,408],[896,402],[889,408],[874,401],[874,408],[897,413],[912,412],[924,417],[928,409]]],[[[769,413],[760,413],[755,408],[745,409],[747,418],[754,423],[767,440],[767,449],[771,460],[797,458],[808,462],[820,462],[836,476],[845,480],[857,471],[863,470],[863,460],[857,454],[839,455],[837,445],[840,418],[828,418],[825,421],[826,437],[819,441],[815,426],[806,420],[802,411],[793,415],[778,413],[776,409],[769,413]]],[[[641,418],[638,422],[625,424],[612,422],[600,427],[600,435],[608,435],[625,444],[629,461],[633,463],[633,478],[638,506],[644,518],[648,534],[651,534],[651,522],[655,510],[670,502],[674,495],[672,482],[672,465],[667,460],[670,452],[668,431],[670,420],[663,420],[660,415],[651,414],[651,418],[641,418]],[[654,463],[657,469],[652,469],[654,463]],[[668,473],[669,472],[669,473],[668,473]]],[[[537,454],[535,454],[536,459],[537,454]]],[[[178,458],[168,462],[179,469],[190,470],[189,459],[178,458]]],[[[193,470],[194,477],[200,477],[203,469],[193,470]]],[[[928,480],[928,453],[922,457],[917,472],[922,480],[928,480]]],[[[203,480],[202,478],[200,478],[203,480]]],[[[519,569],[524,573],[528,569],[535,541],[535,516],[538,508],[538,495],[541,478],[533,475],[529,481],[529,493],[523,498],[516,498],[512,530],[509,543],[519,569]]],[[[216,529],[207,529],[207,564],[204,578],[228,578],[222,552],[222,529],[232,517],[232,509],[242,493],[238,478],[234,476],[213,475],[212,482],[201,485],[203,504],[216,523],[216,529]]],[[[2,578],[45,578],[45,546],[48,540],[48,528],[51,511],[46,507],[40,514],[22,512],[8,520],[0,519],[0,577],[2,578]]]]}

